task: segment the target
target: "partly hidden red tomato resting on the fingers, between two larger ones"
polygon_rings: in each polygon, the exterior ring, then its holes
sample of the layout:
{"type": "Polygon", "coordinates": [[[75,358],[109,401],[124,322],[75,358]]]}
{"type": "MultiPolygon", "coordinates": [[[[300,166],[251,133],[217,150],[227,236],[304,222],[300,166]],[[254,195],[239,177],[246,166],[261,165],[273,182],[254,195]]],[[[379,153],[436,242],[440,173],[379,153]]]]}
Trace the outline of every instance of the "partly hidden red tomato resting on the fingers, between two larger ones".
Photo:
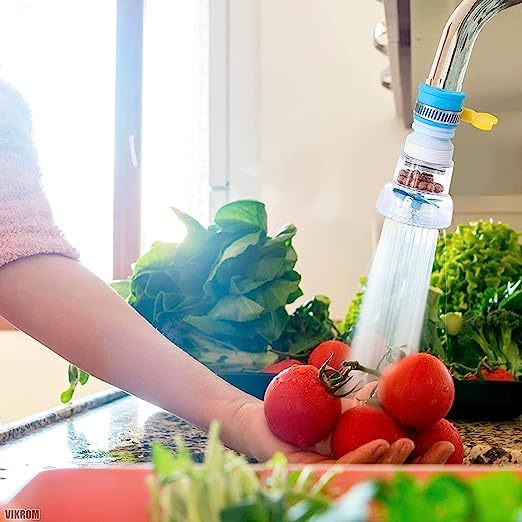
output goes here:
{"type": "Polygon", "coordinates": [[[405,437],[403,429],[384,410],[366,404],[345,411],[332,434],[332,454],[339,459],[346,453],[376,439],[392,444],[405,437]]]}

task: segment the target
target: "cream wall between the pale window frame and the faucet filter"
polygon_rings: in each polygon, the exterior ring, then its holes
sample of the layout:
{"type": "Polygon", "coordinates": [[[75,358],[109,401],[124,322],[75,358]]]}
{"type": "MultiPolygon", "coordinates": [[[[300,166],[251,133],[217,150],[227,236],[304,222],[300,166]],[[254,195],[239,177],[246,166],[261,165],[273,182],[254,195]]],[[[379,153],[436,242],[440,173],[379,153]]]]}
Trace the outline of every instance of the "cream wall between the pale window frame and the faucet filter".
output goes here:
{"type": "Polygon", "coordinates": [[[260,180],[272,226],[294,222],[305,295],[342,317],[367,272],[375,201],[406,129],[372,46],[382,4],[261,0],[260,180]]]}

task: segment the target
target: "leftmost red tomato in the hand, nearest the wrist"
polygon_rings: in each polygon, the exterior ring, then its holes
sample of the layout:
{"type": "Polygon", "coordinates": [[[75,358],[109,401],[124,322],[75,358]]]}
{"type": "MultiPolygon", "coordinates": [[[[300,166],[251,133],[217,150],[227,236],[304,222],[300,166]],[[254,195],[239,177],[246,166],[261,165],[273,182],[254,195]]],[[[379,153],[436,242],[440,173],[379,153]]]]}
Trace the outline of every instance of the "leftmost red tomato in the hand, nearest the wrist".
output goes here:
{"type": "Polygon", "coordinates": [[[315,366],[291,366],[265,392],[265,417],[272,433],[298,448],[311,448],[332,432],[341,399],[328,392],[315,366]]]}

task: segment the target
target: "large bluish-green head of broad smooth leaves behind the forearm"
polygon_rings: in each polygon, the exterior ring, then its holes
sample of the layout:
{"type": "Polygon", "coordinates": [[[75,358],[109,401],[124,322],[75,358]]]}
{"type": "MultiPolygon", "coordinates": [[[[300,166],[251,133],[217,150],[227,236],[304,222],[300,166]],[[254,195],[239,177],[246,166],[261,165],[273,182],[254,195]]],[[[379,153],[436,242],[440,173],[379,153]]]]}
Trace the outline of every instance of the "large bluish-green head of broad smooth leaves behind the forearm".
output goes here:
{"type": "Polygon", "coordinates": [[[175,212],[187,236],[156,243],[137,260],[129,304],[214,370],[263,368],[274,359],[268,346],[287,325],[286,305],[302,295],[295,226],[268,236],[257,201],[224,206],[208,228],[175,212]]]}

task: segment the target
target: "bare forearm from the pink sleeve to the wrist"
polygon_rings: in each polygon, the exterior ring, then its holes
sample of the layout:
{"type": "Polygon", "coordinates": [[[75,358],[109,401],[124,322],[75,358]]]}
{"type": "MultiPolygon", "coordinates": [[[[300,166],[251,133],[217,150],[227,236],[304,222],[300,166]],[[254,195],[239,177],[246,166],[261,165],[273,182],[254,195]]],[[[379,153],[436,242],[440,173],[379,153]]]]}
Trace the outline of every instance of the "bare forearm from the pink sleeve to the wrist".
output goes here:
{"type": "Polygon", "coordinates": [[[235,425],[253,397],[224,382],[153,329],[72,259],[39,255],[0,269],[0,314],[92,375],[255,453],[235,425]]]}

